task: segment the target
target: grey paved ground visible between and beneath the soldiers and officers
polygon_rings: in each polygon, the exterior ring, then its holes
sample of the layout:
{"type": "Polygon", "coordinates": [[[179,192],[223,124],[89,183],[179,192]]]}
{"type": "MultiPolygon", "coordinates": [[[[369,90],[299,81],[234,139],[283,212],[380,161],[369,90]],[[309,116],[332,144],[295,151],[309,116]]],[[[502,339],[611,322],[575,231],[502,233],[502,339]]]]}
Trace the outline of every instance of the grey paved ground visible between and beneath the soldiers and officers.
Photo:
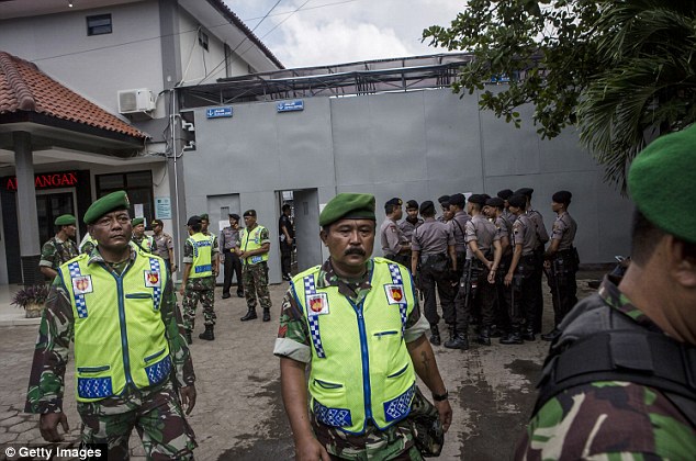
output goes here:
{"type": "MultiPolygon", "coordinates": [[[[579,276],[579,297],[592,291],[586,281],[595,273],[579,276]]],[[[199,460],[244,461],[293,459],[293,443],[280,394],[279,363],[273,357],[278,311],[287,285],[272,285],[272,322],[239,322],[246,312],[243,299],[221,299],[216,290],[217,326],[214,341],[198,339],[191,346],[198,376],[198,403],[190,417],[199,442],[199,460]]],[[[545,285],[545,292],[548,288],[545,285]]],[[[233,289],[234,293],[234,289],[233,289]]],[[[545,330],[552,323],[551,301],[546,293],[545,330]]],[[[22,413],[36,339],[36,325],[0,327],[0,448],[7,443],[41,443],[37,416],[22,413]]],[[[446,329],[441,324],[440,329],[446,329]]],[[[521,346],[473,345],[468,351],[436,347],[438,367],[449,389],[453,421],[446,435],[440,459],[509,459],[524,430],[535,401],[535,387],[548,342],[521,346]]],[[[70,431],[67,441],[79,437],[72,366],[66,374],[65,411],[70,431]]],[[[426,392],[426,395],[429,395],[426,392]]],[[[132,438],[134,459],[144,459],[141,442],[132,438]]],[[[4,459],[4,449],[0,460],[4,459]]],[[[12,458],[16,459],[16,458],[12,458]]]]}

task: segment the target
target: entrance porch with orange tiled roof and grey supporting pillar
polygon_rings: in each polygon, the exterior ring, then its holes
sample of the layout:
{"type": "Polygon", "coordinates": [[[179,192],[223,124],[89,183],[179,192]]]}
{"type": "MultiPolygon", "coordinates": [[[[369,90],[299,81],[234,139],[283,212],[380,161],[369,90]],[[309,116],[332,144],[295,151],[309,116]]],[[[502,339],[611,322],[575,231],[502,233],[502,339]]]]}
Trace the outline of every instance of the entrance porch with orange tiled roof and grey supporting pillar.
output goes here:
{"type": "Polygon", "coordinates": [[[14,166],[25,284],[43,281],[34,164],[75,157],[119,164],[142,154],[149,136],[42,72],[0,52],[0,168],[14,166]]]}

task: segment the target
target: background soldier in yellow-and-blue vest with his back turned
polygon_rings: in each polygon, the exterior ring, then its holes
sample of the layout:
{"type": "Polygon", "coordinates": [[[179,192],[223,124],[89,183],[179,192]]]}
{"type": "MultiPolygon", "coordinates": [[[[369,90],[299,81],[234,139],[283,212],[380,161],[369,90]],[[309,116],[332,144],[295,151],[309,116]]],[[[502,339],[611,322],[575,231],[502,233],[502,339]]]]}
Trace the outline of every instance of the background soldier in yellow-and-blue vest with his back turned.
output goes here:
{"type": "Polygon", "coordinates": [[[180,293],[183,296],[183,327],[186,338],[191,344],[191,334],[195,326],[195,307],[200,302],[203,306],[203,323],[205,331],[199,338],[214,340],[215,333],[215,278],[217,267],[213,265],[216,259],[217,247],[213,246],[213,239],[201,232],[200,216],[191,216],[187,223],[189,238],[183,244],[183,277],[180,293]]]}

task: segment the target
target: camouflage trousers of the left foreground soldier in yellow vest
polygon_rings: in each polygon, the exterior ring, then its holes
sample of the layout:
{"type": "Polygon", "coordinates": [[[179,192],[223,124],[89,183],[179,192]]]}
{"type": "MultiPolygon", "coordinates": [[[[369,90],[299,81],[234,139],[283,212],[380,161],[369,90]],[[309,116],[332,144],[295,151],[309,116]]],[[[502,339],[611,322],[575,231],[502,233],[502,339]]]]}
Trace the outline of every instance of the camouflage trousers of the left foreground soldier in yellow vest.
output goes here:
{"type": "Polygon", "coordinates": [[[127,460],[128,438],[137,430],[148,460],[192,460],[198,447],[171,382],[156,391],[112,397],[115,405],[80,403],[82,443],[106,443],[110,460],[127,460]]]}

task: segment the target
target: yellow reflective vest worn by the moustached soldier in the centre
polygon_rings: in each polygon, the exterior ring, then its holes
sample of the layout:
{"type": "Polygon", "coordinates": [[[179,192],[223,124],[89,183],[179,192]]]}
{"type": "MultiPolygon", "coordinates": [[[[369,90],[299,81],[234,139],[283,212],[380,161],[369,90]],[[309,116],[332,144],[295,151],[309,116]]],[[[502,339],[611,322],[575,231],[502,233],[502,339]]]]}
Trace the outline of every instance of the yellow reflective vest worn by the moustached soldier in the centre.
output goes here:
{"type": "Polygon", "coordinates": [[[415,370],[404,331],[415,306],[411,273],[374,258],[370,292],[360,304],[337,286],[317,289],[319,267],[292,280],[312,341],[311,408],[327,426],[362,434],[384,429],[411,412],[415,370]]]}

